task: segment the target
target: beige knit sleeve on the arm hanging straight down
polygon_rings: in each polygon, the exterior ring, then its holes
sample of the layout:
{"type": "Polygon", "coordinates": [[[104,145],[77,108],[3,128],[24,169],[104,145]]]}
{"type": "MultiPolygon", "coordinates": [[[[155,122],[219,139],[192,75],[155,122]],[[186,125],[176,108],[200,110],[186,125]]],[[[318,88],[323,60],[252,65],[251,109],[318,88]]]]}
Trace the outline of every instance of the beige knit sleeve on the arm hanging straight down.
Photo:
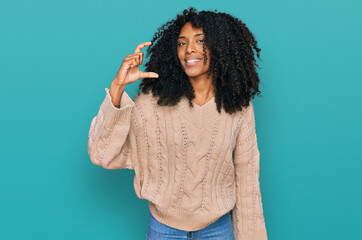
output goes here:
{"type": "Polygon", "coordinates": [[[233,152],[236,204],[231,211],[235,240],[267,240],[259,183],[260,153],[253,104],[244,109],[233,152]]]}

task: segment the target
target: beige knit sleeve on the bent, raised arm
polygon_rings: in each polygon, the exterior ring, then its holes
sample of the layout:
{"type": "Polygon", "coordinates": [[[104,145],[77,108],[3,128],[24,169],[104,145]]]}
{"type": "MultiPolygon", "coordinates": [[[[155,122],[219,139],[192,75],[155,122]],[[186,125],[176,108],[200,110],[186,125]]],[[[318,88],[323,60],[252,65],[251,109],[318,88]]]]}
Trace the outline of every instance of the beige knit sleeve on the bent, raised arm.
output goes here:
{"type": "Polygon", "coordinates": [[[87,151],[93,164],[105,169],[133,169],[132,146],[135,146],[131,129],[135,102],[123,91],[120,108],[113,106],[109,89],[92,119],[88,133],[87,151]]]}

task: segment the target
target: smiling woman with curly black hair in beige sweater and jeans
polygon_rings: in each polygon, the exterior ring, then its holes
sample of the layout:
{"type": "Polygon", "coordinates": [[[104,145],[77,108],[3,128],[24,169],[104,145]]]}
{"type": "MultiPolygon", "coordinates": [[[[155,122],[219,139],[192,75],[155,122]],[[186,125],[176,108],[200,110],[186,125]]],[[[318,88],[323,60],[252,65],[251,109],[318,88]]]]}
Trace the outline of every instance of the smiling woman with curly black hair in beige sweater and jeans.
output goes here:
{"type": "Polygon", "coordinates": [[[105,89],[88,153],[105,169],[135,170],[151,213],[147,239],[267,239],[253,50],[259,57],[240,20],[191,7],[127,55],[105,89]],[[124,88],[140,78],[132,100],[124,88]]]}

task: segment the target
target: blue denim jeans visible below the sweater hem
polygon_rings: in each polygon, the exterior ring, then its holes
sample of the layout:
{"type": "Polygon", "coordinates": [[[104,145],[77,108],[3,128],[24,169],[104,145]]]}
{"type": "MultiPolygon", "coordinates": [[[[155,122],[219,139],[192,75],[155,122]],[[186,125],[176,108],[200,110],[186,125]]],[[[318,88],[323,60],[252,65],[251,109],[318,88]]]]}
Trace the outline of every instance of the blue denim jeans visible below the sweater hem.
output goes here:
{"type": "Polygon", "coordinates": [[[197,231],[183,231],[169,227],[150,214],[146,240],[166,239],[210,239],[210,240],[235,240],[231,225],[230,212],[221,216],[216,222],[197,231]]]}

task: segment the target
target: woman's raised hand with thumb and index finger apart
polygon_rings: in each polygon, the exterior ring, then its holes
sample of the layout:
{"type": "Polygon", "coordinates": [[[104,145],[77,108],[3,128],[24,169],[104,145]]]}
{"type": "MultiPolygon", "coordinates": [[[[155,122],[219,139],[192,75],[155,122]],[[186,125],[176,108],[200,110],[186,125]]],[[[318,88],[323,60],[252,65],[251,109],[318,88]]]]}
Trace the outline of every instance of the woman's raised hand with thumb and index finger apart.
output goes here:
{"type": "Polygon", "coordinates": [[[142,72],[139,69],[143,61],[143,52],[141,52],[141,49],[151,44],[152,42],[144,42],[137,45],[134,53],[127,55],[123,59],[123,63],[113,80],[114,84],[124,87],[140,78],[158,78],[158,74],[155,72],[142,72]]]}

